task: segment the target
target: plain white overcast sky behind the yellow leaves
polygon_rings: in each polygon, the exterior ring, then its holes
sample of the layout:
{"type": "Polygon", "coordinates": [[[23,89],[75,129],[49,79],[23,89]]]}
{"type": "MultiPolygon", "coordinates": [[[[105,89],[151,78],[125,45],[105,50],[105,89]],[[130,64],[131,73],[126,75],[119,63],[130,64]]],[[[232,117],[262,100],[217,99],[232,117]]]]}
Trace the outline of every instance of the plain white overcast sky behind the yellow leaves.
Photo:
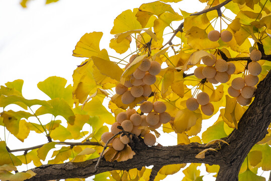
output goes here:
{"type": "MultiPolygon", "coordinates": [[[[48,100],[37,88],[37,83],[49,76],[60,76],[67,79],[67,84],[72,84],[73,70],[85,60],[71,56],[82,35],[94,31],[103,32],[100,49],[106,48],[110,55],[123,58],[123,55],[109,48],[109,42],[114,37],[110,34],[114,19],[125,10],[150,2],[154,0],[60,0],[45,5],[45,0],[33,0],[29,2],[28,8],[23,9],[20,0],[0,0],[0,85],[23,79],[23,95],[26,99],[48,100]]],[[[178,8],[190,13],[205,8],[205,4],[196,0],[184,0],[171,6],[178,13],[178,8]]],[[[214,121],[216,119],[209,124],[212,125],[214,121]]],[[[206,122],[203,121],[203,124],[206,122]]],[[[29,137],[31,135],[34,136],[31,133],[29,137]]],[[[3,138],[3,129],[0,130],[0,136],[3,138]]],[[[170,135],[161,137],[165,142],[172,138],[170,135]]],[[[35,138],[39,140],[38,144],[47,141],[42,134],[35,134],[35,138]]],[[[26,139],[22,144],[10,136],[11,142],[11,149],[34,146],[33,139],[26,139]]],[[[33,164],[28,168],[31,166],[33,164]]],[[[206,174],[205,166],[201,167],[202,174],[206,174]]],[[[264,174],[268,176],[268,172],[264,174]]],[[[211,175],[204,176],[204,180],[215,180],[211,175]]],[[[179,171],[164,180],[182,180],[183,176],[183,172],[179,171]]]]}

